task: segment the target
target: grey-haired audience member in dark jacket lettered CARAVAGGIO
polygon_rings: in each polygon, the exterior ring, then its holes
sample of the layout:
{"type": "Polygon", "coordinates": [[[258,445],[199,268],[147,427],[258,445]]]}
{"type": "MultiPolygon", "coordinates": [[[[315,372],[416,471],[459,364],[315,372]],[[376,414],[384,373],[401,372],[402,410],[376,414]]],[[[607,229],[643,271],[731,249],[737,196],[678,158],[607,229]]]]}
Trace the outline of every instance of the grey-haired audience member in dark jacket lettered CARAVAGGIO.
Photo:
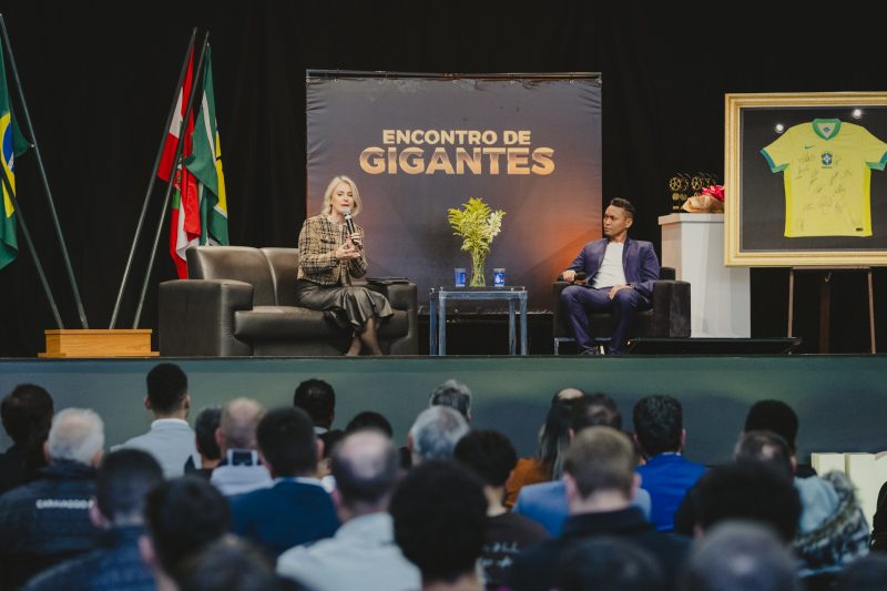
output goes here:
{"type": "Polygon", "coordinates": [[[0,588],[95,548],[100,531],[89,513],[103,448],[104,424],[92,410],[68,408],[52,419],[49,466],[0,497],[0,588]]]}

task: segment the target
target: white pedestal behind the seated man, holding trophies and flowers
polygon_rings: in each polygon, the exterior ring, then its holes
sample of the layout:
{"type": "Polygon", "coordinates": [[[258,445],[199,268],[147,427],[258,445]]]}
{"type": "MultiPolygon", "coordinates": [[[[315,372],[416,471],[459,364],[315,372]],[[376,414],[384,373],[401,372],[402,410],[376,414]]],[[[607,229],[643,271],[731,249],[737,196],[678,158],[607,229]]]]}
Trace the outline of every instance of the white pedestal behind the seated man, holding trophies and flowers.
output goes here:
{"type": "Polygon", "coordinates": [[[724,214],[673,213],[659,218],[662,265],[690,283],[691,337],[748,338],[748,267],[724,265],[724,214]]]}

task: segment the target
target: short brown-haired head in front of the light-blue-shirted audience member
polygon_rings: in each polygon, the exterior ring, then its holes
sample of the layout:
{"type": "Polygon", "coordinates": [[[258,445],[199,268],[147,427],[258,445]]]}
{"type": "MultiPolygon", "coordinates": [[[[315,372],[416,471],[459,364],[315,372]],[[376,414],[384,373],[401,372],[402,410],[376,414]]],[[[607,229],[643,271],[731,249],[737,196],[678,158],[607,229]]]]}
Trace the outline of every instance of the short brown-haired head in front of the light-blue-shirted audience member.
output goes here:
{"type": "Polygon", "coordinates": [[[631,498],[638,458],[629,437],[611,427],[589,427],[573,438],[563,471],[575,481],[583,499],[595,492],[619,491],[631,498]]]}

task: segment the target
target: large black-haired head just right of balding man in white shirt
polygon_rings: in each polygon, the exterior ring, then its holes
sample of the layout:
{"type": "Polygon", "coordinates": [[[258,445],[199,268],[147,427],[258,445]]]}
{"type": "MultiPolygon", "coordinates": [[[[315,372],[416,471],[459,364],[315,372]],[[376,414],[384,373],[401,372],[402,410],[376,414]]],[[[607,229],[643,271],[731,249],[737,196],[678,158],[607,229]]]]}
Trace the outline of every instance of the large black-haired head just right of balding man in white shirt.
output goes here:
{"type": "Polygon", "coordinates": [[[391,498],[395,541],[425,582],[475,571],[483,547],[487,498],[480,480],[451,461],[410,470],[391,498]]]}

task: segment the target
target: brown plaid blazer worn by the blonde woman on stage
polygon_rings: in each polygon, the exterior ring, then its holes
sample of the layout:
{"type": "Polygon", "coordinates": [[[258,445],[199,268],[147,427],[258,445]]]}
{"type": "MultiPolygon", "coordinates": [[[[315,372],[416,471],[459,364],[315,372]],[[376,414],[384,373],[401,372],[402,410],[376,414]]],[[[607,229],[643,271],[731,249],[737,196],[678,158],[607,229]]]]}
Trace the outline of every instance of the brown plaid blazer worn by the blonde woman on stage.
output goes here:
{"type": "MultiPolygon", "coordinates": [[[[360,226],[356,228],[358,234],[364,234],[360,226]]],[[[366,275],[366,251],[347,263],[336,258],[336,249],[345,244],[345,226],[334,224],[326,215],[305,220],[298,234],[298,278],[333,286],[350,285],[350,277],[366,275]]]]}

